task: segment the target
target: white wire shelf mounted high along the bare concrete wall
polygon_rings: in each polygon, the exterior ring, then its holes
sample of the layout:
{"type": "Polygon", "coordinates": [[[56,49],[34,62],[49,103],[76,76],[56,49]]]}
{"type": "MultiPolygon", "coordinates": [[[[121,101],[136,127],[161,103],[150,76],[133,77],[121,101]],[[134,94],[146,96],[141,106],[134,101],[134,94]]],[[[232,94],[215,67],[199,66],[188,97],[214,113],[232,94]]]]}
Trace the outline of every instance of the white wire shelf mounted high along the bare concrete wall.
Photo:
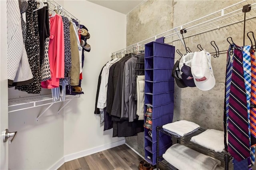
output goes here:
{"type": "Polygon", "coordinates": [[[171,30],[158,34],[154,37],[148,38],[138,43],[134,43],[132,45],[129,45],[128,47],[115,51],[111,53],[111,57],[116,55],[117,53],[122,53],[124,51],[132,50],[134,48],[135,51],[139,50],[139,47],[143,47],[146,43],[152,42],[161,37],[164,37],[165,43],[168,44],[172,44],[173,42],[181,40],[183,46],[185,47],[180,30],[186,32],[186,34],[184,34],[185,39],[243,22],[244,19],[251,20],[253,18],[256,18],[256,0],[242,0],[241,2],[223,8],[222,10],[218,10],[202,18],[198,18],[197,20],[172,28],[171,30]],[[242,9],[248,4],[250,4],[251,10],[250,12],[247,12],[246,17],[244,17],[244,12],[242,12],[242,9]]]}

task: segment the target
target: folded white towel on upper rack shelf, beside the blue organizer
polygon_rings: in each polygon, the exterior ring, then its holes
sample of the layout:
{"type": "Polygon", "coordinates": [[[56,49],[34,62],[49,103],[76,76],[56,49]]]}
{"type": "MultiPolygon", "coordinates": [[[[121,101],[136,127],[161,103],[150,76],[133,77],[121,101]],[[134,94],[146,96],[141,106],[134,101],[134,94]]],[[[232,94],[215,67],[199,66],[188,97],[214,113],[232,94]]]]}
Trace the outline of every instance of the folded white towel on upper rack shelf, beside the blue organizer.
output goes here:
{"type": "Polygon", "coordinates": [[[196,123],[185,120],[168,123],[163,126],[164,129],[174,132],[180,136],[184,136],[199,127],[200,126],[196,123]]]}

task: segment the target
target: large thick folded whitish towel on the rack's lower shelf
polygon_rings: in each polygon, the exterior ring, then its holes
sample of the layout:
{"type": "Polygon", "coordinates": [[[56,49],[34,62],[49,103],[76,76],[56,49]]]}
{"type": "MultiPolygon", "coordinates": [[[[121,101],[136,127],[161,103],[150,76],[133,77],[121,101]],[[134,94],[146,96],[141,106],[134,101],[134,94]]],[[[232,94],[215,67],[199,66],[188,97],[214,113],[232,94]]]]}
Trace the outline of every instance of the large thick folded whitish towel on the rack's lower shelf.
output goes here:
{"type": "Polygon", "coordinates": [[[179,170],[215,170],[220,160],[199,153],[182,144],[174,144],[166,150],[163,158],[179,170]]]}

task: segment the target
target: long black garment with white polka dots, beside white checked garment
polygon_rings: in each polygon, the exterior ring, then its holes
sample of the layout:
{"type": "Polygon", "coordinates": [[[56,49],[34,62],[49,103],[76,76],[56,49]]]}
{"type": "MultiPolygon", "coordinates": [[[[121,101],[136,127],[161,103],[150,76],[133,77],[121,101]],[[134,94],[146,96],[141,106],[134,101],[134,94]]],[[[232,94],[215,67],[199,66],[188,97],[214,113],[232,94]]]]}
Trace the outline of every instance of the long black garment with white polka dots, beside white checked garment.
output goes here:
{"type": "Polygon", "coordinates": [[[41,67],[39,56],[39,34],[38,34],[38,16],[36,2],[28,1],[28,9],[26,11],[26,42],[25,47],[28,54],[29,65],[34,77],[34,81],[28,85],[16,86],[20,91],[37,94],[41,91],[41,67]]]}

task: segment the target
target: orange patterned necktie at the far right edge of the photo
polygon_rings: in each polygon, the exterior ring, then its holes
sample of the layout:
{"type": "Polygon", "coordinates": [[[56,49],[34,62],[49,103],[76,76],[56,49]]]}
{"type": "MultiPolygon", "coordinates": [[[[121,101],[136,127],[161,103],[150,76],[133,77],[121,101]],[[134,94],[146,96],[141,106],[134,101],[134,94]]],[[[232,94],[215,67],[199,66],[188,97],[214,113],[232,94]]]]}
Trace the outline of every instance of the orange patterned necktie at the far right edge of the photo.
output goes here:
{"type": "Polygon", "coordinates": [[[255,51],[251,50],[251,69],[252,69],[252,84],[251,84],[251,109],[250,109],[250,131],[251,131],[251,146],[256,146],[256,60],[255,51]],[[255,106],[254,106],[255,105],[255,106]]]}

